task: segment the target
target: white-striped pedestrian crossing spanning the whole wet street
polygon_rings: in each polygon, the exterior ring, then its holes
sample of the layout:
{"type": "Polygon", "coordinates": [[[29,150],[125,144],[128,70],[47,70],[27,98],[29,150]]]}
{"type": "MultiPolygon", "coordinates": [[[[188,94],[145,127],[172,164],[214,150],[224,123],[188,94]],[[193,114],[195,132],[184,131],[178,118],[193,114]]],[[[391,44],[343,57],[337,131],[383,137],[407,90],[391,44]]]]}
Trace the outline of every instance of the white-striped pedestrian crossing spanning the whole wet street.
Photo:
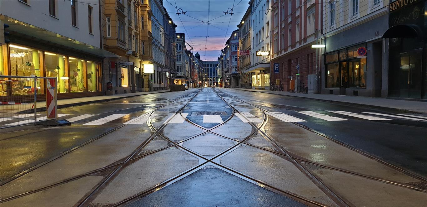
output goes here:
{"type": "MultiPolygon", "coordinates": [[[[269,117],[274,117],[283,122],[307,122],[314,121],[316,119],[323,121],[350,121],[348,118],[357,118],[369,121],[393,121],[396,119],[404,119],[411,121],[425,121],[427,122],[427,116],[420,115],[406,115],[406,114],[385,114],[378,112],[347,112],[347,111],[296,111],[290,112],[289,114],[284,112],[266,112],[269,117]],[[335,115],[339,115],[339,117],[335,115]],[[348,118],[347,118],[348,117],[348,118]]],[[[11,118],[0,118],[0,126],[15,126],[19,124],[29,124],[33,123],[33,119],[22,120],[21,118],[28,118],[33,116],[34,114],[22,114],[13,116],[11,118]],[[2,123],[3,122],[3,123],[2,123]]],[[[39,116],[41,114],[38,114],[39,116]]],[[[130,120],[126,120],[126,122],[122,123],[126,124],[146,124],[149,118],[153,118],[159,114],[146,113],[140,115],[138,117],[132,118],[130,120]]],[[[188,113],[173,113],[170,114],[163,124],[183,124],[189,114],[188,113]]],[[[243,123],[262,123],[263,118],[257,117],[250,112],[236,112],[234,115],[240,119],[243,123]]],[[[85,126],[99,126],[107,124],[111,121],[118,120],[124,118],[125,116],[129,116],[129,114],[111,114],[111,115],[99,115],[99,114],[83,114],[71,117],[69,114],[58,114],[58,118],[69,116],[66,118],[67,121],[70,121],[73,124],[76,123],[84,123],[85,119],[92,119],[91,121],[81,124],[85,126]],[[98,116],[103,116],[97,118],[98,116]],[[95,119],[95,120],[93,120],[95,119]]],[[[47,116],[38,117],[37,121],[46,120],[47,116]]],[[[223,123],[221,115],[203,115],[203,123],[223,123]]],[[[117,122],[114,122],[117,124],[117,122]]]]}

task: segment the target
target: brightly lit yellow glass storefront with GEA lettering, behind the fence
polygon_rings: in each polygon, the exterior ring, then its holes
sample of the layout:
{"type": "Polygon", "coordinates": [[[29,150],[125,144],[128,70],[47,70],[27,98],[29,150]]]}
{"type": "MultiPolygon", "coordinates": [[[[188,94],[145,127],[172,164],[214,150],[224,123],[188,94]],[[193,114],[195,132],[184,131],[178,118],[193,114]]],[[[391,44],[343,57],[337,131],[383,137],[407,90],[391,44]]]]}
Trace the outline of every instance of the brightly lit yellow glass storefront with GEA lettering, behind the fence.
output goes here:
{"type": "MultiPolygon", "coordinates": [[[[99,92],[101,90],[99,68],[100,63],[97,62],[28,46],[15,44],[0,46],[0,75],[56,77],[58,93],[99,92]]],[[[33,84],[31,80],[12,80],[11,83],[6,83],[0,78],[0,96],[29,95],[35,91],[38,94],[44,93],[43,80],[38,79],[36,87],[33,84]]]]}

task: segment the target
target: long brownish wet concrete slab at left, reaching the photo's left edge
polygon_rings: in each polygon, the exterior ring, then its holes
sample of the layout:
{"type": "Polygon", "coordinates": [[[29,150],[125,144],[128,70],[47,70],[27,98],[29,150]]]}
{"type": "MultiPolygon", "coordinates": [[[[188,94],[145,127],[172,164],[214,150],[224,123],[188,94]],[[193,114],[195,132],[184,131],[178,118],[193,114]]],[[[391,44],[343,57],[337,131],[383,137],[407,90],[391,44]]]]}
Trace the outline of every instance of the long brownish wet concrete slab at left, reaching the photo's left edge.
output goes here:
{"type": "Polygon", "coordinates": [[[67,155],[45,164],[7,184],[0,186],[0,198],[8,198],[30,190],[108,166],[130,155],[149,138],[148,127],[126,125],[67,155]],[[126,132],[126,136],[123,133],[126,132]]]}

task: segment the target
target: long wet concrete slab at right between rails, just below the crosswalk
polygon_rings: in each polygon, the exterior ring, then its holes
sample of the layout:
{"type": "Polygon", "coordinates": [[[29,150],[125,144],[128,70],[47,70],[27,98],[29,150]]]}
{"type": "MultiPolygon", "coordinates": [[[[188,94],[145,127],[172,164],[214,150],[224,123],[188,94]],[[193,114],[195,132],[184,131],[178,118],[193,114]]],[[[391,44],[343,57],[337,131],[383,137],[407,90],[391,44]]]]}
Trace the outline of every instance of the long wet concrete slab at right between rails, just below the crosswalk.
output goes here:
{"type": "Polygon", "coordinates": [[[389,181],[419,181],[295,124],[271,118],[262,130],[288,152],[319,164],[389,181]]]}

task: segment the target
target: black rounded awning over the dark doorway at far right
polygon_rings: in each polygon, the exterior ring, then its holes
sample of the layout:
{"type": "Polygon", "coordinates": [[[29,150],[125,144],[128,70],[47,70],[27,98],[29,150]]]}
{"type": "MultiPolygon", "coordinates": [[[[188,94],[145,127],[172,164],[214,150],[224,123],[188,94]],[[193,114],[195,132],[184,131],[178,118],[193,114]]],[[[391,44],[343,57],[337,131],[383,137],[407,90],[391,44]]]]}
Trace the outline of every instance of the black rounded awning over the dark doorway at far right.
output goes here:
{"type": "Polygon", "coordinates": [[[422,38],[419,26],[414,24],[399,24],[384,32],[383,38],[422,38]]]}

